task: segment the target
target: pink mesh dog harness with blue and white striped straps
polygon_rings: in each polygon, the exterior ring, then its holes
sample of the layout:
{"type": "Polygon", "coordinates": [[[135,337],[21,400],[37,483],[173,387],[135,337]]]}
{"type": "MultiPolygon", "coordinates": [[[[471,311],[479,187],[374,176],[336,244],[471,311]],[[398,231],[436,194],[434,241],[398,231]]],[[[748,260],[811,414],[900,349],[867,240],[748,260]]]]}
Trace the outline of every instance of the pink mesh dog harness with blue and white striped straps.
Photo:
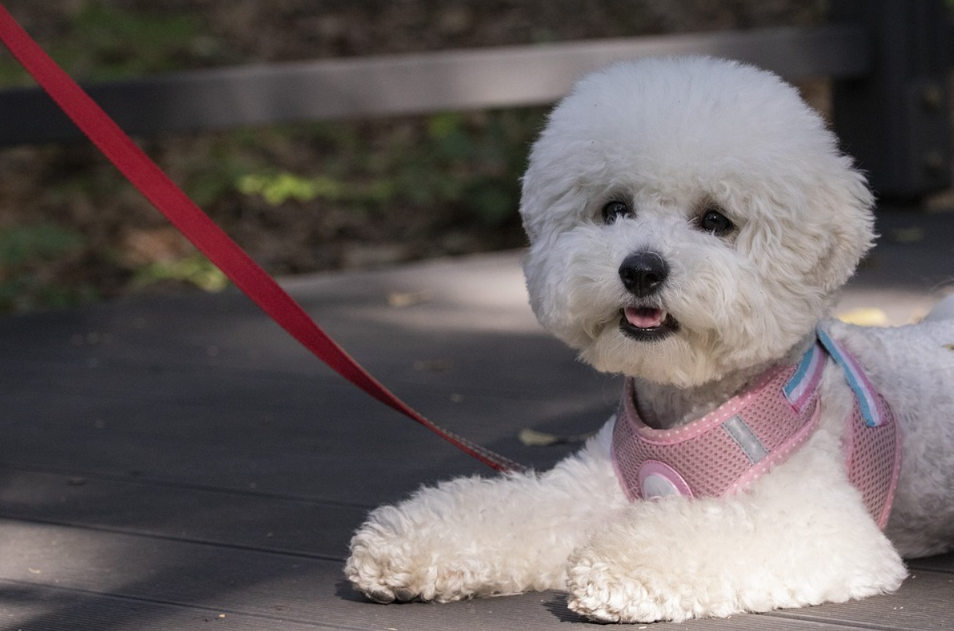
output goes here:
{"type": "Polygon", "coordinates": [[[818,426],[818,384],[831,356],[855,394],[845,433],[851,483],[884,528],[901,470],[894,414],[855,358],[824,331],[796,366],[775,368],[744,394],[687,425],[647,426],[626,381],[613,429],[613,466],[630,500],[725,497],[785,462],[818,426]]]}

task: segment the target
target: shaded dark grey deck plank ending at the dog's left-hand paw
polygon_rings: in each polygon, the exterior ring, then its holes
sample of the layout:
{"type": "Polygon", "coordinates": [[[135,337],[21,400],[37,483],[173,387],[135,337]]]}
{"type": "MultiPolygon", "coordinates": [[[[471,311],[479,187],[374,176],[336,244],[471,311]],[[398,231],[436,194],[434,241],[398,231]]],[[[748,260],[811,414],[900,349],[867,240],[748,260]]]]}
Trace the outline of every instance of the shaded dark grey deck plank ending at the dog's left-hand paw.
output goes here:
{"type": "Polygon", "coordinates": [[[365,507],[209,487],[0,471],[6,519],[341,561],[365,507]]]}

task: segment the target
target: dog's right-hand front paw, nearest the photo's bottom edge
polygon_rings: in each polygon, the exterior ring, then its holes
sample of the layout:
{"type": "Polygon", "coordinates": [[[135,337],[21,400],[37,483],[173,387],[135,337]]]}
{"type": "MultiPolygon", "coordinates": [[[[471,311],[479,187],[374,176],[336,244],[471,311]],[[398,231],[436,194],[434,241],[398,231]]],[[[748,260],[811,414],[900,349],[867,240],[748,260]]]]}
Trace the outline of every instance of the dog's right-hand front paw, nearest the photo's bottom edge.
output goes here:
{"type": "Polygon", "coordinates": [[[667,584],[662,573],[654,574],[645,567],[577,554],[567,571],[568,605],[598,622],[680,622],[694,617],[677,586],[667,584]]]}

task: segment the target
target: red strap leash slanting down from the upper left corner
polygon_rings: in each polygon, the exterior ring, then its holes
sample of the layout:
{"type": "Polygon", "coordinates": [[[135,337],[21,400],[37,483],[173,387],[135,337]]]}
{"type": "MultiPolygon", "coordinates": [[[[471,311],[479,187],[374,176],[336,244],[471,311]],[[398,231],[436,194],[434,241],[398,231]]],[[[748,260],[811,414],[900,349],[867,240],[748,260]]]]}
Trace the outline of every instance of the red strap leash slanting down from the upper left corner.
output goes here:
{"type": "Polygon", "coordinates": [[[449,432],[401,401],[308,317],[248,254],[222,231],[123,132],[0,4],[0,40],[60,108],[146,199],[275,322],[339,375],[388,407],[499,471],[524,467],[449,432]]]}

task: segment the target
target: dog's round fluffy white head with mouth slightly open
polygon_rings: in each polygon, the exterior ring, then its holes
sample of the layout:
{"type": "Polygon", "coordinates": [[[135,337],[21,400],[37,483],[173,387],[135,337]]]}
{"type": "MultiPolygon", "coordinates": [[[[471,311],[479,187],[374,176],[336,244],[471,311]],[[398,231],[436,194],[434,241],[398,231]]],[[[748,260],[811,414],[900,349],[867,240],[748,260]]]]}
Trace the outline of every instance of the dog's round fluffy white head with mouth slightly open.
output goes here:
{"type": "Polygon", "coordinates": [[[531,152],[531,303],[596,368],[697,386],[812,331],[871,245],[872,203],[775,75],[617,64],[575,86],[531,152]]]}

